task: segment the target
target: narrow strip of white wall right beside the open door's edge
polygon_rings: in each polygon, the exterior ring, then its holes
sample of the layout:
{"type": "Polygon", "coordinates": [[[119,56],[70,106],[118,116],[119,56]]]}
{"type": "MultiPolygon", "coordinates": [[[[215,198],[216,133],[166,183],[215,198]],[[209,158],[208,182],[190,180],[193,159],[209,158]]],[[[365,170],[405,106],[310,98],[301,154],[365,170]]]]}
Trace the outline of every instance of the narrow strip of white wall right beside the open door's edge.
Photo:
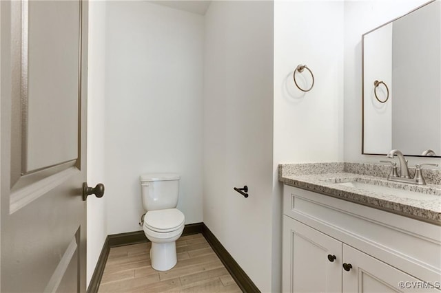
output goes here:
{"type": "MultiPolygon", "coordinates": [[[[89,1],[88,184],[104,184],[105,2],[89,1]]],[[[105,185],[107,188],[107,185],[105,185]]],[[[87,285],[107,237],[105,196],[88,197],[87,285]]]]}

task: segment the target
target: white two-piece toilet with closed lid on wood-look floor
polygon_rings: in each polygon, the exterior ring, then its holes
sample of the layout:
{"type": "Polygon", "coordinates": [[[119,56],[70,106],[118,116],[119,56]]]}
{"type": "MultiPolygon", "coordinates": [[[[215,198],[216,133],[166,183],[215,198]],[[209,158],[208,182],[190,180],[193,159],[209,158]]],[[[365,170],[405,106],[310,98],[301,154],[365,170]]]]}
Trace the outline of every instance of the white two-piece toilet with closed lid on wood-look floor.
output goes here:
{"type": "Polygon", "coordinates": [[[179,179],[175,173],[152,173],[140,176],[144,210],[143,230],[152,241],[152,268],[170,270],[176,265],[176,240],[184,230],[185,216],[176,208],[179,179]]]}

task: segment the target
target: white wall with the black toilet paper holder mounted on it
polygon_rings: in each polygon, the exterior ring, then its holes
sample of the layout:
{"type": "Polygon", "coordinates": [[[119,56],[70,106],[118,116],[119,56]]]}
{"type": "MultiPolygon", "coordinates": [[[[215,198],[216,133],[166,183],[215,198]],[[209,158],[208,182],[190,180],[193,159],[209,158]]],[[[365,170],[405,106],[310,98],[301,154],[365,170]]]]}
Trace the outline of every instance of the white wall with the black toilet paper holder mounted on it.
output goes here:
{"type": "Polygon", "coordinates": [[[273,3],[205,15],[203,221],[262,292],[271,284],[273,3]],[[233,190],[247,185],[245,199],[233,190]]]}

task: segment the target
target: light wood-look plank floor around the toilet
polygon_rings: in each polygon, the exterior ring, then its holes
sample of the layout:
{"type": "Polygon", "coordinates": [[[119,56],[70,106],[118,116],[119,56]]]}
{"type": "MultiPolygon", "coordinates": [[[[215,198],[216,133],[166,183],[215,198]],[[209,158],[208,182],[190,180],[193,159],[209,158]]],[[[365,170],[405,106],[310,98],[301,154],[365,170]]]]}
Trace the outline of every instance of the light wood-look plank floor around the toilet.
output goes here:
{"type": "Polygon", "coordinates": [[[166,272],[150,265],[150,245],[110,248],[99,292],[241,292],[202,234],[176,241],[178,263],[166,272]]]}

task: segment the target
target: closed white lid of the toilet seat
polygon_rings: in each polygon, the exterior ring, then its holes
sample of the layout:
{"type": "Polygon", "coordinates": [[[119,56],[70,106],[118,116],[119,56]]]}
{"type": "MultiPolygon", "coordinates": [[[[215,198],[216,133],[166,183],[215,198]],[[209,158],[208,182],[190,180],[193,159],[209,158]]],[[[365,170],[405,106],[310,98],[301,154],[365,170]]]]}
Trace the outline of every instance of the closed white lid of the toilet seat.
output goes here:
{"type": "Polygon", "coordinates": [[[150,210],[145,214],[144,226],[156,232],[170,232],[184,224],[185,216],[177,208],[150,210]]]}

